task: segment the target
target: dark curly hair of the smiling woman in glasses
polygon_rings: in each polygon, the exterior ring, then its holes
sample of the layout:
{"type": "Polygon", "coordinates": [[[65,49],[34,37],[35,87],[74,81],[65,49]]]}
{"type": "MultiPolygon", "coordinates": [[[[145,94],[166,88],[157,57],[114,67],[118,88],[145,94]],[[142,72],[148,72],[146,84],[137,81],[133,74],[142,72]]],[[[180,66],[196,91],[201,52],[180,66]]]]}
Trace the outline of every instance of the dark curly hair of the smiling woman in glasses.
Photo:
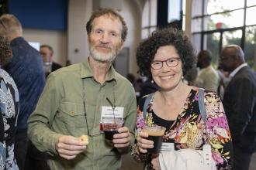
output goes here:
{"type": "Polygon", "coordinates": [[[150,80],[152,79],[150,65],[157,53],[157,49],[161,46],[175,47],[178,56],[182,60],[183,75],[196,62],[195,50],[189,41],[189,37],[185,35],[185,32],[170,27],[158,29],[152,32],[150,37],[140,42],[137,48],[137,65],[139,66],[138,72],[141,76],[147,76],[150,80]]]}

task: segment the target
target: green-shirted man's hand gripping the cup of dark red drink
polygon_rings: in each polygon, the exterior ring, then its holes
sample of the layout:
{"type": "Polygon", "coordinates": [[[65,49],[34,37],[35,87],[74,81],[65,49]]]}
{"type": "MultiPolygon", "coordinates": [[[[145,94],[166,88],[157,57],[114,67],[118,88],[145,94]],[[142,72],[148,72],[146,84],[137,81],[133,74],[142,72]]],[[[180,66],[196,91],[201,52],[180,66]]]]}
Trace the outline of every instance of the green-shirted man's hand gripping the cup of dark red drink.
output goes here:
{"type": "Polygon", "coordinates": [[[125,148],[130,145],[130,131],[127,127],[118,129],[117,134],[113,136],[113,144],[116,148],[125,148]]]}

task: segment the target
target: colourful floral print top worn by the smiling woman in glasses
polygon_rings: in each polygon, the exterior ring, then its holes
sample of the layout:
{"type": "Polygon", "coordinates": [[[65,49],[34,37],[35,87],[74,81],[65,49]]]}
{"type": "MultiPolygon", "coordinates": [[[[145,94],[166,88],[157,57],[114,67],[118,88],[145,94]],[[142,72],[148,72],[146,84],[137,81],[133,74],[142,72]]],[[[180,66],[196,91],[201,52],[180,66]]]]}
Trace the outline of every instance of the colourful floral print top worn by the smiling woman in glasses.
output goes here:
{"type": "MultiPolygon", "coordinates": [[[[163,140],[174,143],[175,150],[182,148],[202,150],[202,145],[209,144],[212,148],[212,158],[216,163],[216,169],[231,169],[233,146],[223,104],[216,93],[206,90],[204,93],[206,121],[203,121],[199,112],[198,92],[197,87],[192,87],[181,113],[178,114],[171,128],[165,131],[163,140]]],[[[143,116],[145,99],[146,97],[140,100],[137,107],[137,134],[144,126],[154,124],[152,117],[154,112],[151,108],[154,95],[147,106],[146,119],[143,116]]],[[[141,154],[138,151],[137,144],[133,146],[132,155],[134,159],[140,162],[146,162],[148,159],[147,154],[141,154]]]]}

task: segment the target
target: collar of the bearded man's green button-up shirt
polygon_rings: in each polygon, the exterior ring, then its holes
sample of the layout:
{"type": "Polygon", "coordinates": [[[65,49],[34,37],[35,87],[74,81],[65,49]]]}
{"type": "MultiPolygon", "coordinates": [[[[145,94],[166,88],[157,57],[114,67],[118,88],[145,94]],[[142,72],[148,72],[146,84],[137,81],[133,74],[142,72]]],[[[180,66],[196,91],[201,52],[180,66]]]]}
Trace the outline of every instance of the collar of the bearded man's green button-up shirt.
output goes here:
{"type": "MultiPolygon", "coordinates": [[[[91,67],[89,65],[89,60],[85,59],[83,63],[81,63],[81,78],[89,78],[93,77],[93,73],[91,67]]],[[[116,70],[113,66],[110,67],[109,76],[106,78],[106,81],[116,80],[116,70]]]]}

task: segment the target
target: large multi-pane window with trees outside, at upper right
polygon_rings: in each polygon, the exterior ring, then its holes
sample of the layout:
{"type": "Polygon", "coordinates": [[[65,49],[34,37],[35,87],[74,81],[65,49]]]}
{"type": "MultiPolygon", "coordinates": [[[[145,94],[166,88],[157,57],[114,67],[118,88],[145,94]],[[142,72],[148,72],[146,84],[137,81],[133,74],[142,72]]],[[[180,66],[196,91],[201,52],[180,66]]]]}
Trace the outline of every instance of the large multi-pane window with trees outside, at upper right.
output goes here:
{"type": "Polygon", "coordinates": [[[192,42],[197,52],[209,49],[213,66],[218,65],[224,46],[237,44],[245,60],[256,68],[256,0],[194,0],[192,2],[192,42]]]}

